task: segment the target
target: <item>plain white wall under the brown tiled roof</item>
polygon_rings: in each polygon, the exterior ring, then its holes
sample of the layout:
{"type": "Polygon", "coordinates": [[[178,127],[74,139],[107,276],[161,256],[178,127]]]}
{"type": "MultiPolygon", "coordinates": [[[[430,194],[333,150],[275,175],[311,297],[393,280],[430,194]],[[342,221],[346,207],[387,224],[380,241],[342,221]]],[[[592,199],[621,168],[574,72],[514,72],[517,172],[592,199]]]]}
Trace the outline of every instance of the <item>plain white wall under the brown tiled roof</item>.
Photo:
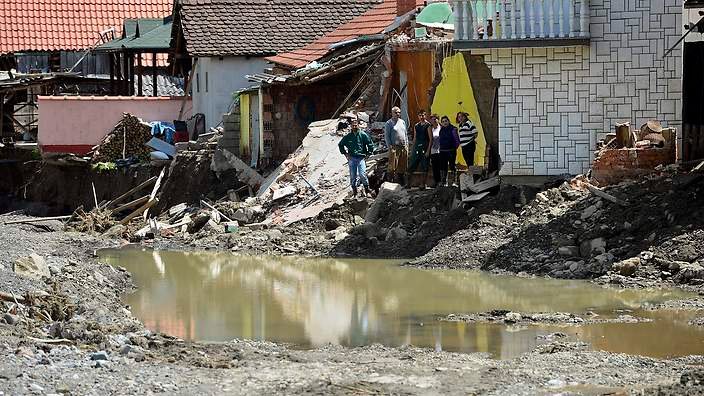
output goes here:
{"type": "Polygon", "coordinates": [[[261,73],[266,67],[264,58],[199,58],[191,87],[193,113],[205,114],[207,129],[218,125],[232,104],[233,93],[254,85],[245,76],[261,73]]]}

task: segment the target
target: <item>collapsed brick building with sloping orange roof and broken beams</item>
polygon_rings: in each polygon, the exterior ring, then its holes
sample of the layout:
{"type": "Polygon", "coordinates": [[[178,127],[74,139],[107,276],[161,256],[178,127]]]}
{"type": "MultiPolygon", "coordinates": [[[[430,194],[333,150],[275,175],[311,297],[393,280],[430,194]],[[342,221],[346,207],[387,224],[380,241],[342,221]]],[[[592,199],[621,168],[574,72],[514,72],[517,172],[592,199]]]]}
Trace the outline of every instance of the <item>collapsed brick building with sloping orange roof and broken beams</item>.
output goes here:
{"type": "Polygon", "coordinates": [[[337,117],[355,102],[359,110],[383,111],[378,93],[386,39],[408,25],[418,6],[422,3],[415,0],[384,0],[300,49],[266,58],[273,72],[248,76],[258,85],[241,92],[234,111],[240,128],[226,130],[239,140],[239,155],[260,155],[265,160],[260,165],[279,161],[301,144],[314,121],[337,117]],[[251,106],[260,95],[261,112],[251,106]],[[252,119],[264,120],[263,133],[252,119]]]}

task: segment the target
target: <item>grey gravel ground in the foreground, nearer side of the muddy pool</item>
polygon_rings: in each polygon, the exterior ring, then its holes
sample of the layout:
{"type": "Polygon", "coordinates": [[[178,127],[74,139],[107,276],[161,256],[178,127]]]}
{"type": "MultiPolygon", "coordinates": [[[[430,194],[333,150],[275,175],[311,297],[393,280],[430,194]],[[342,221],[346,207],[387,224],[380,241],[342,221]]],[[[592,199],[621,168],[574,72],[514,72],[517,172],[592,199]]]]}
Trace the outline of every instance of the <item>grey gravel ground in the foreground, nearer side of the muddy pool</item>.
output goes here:
{"type": "MultiPolygon", "coordinates": [[[[13,219],[3,216],[0,221],[13,219]]],[[[525,394],[702,391],[702,357],[659,360],[589,351],[552,341],[512,360],[418,348],[329,346],[300,351],[234,340],[183,342],[146,330],[120,302],[130,275],[100,264],[94,250],[117,242],[45,227],[0,225],[0,291],[30,302],[3,312],[4,394],[525,394]],[[12,272],[36,253],[52,275],[12,272]],[[44,314],[43,312],[46,312],[44,314]],[[50,341],[51,340],[51,341],[50,341]],[[58,342],[57,342],[58,341],[58,342]],[[684,378],[684,380],[682,380],[684,378]],[[657,388],[660,386],[661,388],[657,388]]]]}

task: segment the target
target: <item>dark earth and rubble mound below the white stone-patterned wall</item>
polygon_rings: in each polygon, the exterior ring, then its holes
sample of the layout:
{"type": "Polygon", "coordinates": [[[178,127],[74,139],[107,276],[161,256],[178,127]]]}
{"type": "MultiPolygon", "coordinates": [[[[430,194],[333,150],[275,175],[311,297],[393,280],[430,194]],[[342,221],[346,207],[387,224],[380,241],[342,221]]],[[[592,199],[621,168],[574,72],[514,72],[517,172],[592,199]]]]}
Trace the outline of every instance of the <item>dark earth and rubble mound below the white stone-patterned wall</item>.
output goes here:
{"type": "Polygon", "coordinates": [[[557,278],[704,282],[704,175],[673,169],[599,189],[584,177],[520,213],[487,211],[414,263],[557,278]]]}

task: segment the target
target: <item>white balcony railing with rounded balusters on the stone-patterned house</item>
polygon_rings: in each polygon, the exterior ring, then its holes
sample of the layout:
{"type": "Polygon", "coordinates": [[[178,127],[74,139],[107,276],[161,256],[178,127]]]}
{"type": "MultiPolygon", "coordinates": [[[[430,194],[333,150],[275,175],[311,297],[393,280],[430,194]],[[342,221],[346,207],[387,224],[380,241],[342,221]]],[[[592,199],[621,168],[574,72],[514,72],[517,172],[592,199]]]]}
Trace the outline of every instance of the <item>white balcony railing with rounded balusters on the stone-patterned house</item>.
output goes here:
{"type": "Polygon", "coordinates": [[[569,45],[589,39],[589,0],[455,0],[452,5],[455,41],[469,47],[569,45]]]}

